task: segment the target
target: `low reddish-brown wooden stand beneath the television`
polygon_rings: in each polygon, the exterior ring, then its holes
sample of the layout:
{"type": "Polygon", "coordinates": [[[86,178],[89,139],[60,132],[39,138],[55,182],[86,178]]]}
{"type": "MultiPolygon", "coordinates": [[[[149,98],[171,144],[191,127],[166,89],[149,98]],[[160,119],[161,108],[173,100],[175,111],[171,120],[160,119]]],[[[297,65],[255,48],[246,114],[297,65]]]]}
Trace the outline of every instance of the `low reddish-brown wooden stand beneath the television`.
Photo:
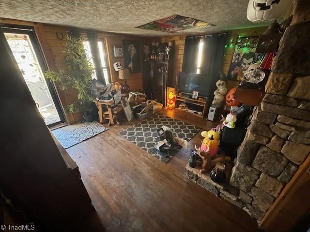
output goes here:
{"type": "Polygon", "coordinates": [[[208,102],[198,101],[197,99],[193,99],[191,97],[175,96],[175,109],[181,110],[181,109],[179,109],[180,103],[185,103],[189,107],[197,108],[195,110],[190,110],[190,109],[183,110],[182,109],[182,111],[184,111],[188,114],[191,114],[191,115],[202,117],[202,118],[205,117],[208,102]]]}

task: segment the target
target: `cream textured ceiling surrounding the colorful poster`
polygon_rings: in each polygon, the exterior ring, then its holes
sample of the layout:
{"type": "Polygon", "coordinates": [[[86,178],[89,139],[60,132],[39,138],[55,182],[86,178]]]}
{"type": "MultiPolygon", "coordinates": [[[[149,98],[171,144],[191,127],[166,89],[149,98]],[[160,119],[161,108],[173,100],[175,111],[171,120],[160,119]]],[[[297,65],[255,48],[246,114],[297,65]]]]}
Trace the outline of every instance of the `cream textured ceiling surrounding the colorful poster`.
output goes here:
{"type": "Polygon", "coordinates": [[[203,33],[266,24],[247,19],[248,0],[0,0],[0,17],[141,36],[203,33]],[[217,26],[179,33],[137,29],[179,14],[217,26]]]}

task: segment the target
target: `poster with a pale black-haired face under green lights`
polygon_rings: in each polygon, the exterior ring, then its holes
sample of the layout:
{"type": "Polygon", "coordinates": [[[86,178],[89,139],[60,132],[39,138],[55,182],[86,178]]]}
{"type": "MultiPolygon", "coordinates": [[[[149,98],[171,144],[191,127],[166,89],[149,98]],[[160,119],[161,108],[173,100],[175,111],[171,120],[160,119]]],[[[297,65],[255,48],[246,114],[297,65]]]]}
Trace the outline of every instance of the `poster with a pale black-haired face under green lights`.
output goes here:
{"type": "Polygon", "coordinates": [[[241,81],[243,74],[248,67],[254,63],[260,63],[263,59],[263,53],[255,53],[258,36],[241,37],[237,39],[233,60],[228,72],[228,79],[233,81],[241,81]]]}

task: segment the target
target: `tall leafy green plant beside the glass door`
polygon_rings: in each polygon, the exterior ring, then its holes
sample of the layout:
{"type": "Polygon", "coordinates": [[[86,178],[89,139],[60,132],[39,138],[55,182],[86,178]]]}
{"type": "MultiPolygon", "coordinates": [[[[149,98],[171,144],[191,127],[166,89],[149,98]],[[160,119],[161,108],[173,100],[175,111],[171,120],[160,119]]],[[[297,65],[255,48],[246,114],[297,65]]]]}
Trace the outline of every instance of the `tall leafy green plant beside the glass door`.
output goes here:
{"type": "Polygon", "coordinates": [[[63,63],[67,67],[66,73],[46,71],[45,78],[57,82],[62,90],[75,88],[78,90],[78,100],[66,106],[69,113],[81,112],[85,121],[93,121],[93,97],[90,93],[93,68],[86,55],[80,38],[68,37],[65,45],[63,63]]]}

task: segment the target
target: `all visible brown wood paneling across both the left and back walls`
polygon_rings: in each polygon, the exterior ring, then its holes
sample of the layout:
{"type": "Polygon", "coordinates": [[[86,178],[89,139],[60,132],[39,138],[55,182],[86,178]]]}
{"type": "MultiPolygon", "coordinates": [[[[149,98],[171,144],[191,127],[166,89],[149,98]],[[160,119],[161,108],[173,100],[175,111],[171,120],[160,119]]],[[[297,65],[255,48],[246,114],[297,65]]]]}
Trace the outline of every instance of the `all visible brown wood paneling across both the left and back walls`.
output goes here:
{"type": "MultiPolygon", "coordinates": [[[[65,72],[66,67],[63,64],[63,56],[64,56],[64,43],[66,41],[66,33],[69,30],[67,27],[46,25],[40,23],[32,23],[20,20],[13,19],[4,19],[0,18],[0,22],[7,24],[15,24],[15,25],[26,25],[33,26],[35,28],[35,32],[37,34],[39,43],[42,47],[44,56],[47,61],[47,65],[49,69],[53,71],[63,71],[65,72]],[[56,36],[56,32],[62,33],[63,39],[59,40],[56,36]]],[[[223,61],[223,72],[228,73],[230,64],[233,58],[234,44],[238,38],[238,36],[255,36],[261,35],[266,27],[258,27],[258,28],[248,28],[248,29],[237,29],[231,30],[229,37],[227,39],[227,44],[233,44],[233,47],[227,46],[224,54],[223,61]]],[[[81,29],[82,30],[82,29],[81,29]]],[[[141,72],[140,73],[132,73],[130,74],[130,78],[127,80],[127,84],[134,91],[143,90],[143,78],[142,78],[142,60],[143,60],[143,44],[151,43],[152,41],[159,42],[173,42],[173,50],[172,50],[172,59],[173,59],[173,73],[172,73],[172,83],[175,86],[177,73],[182,71],[182,63],[183,63],[183,55],[184,55],[184,46],[185,46],[185,38],[186,35],[179,36],[168,36],[168,37],[157,37],[157,38],[143,38],[137,36],[130,36],[125,34],[115,34],[115,33],[106,33],[106,32],[97,32],[99,37],[104,37],[106,39],[106,46],[108,52],[108,61],[110,66],[110,76],[112,82],[120,82],[121,85],[124,85],[124,80],[118,79],[118,72],[116,72],[113,68],[113,63],[120,61],[124,65],[124,58],[115,58],[113,53],[113,46],[123,47],[123,40],[132,40],[138,41],[140,43],[140,58],[141,58],[141,72]]],[[[229,82],[228,86],[233,87],[236,83],[229,82]]],[[[67,104],[73,102],[77,99],[77,91],[72,88],[68,88],[66,90],[61,90],[59,86],[55,85],[57,94],[59,95],[62,108],[64,109],[67,104]]],[[[81,120],[81,114],[69,114],[64,110],[66,121],[69,124],[76,123],[81,120]]]]}

